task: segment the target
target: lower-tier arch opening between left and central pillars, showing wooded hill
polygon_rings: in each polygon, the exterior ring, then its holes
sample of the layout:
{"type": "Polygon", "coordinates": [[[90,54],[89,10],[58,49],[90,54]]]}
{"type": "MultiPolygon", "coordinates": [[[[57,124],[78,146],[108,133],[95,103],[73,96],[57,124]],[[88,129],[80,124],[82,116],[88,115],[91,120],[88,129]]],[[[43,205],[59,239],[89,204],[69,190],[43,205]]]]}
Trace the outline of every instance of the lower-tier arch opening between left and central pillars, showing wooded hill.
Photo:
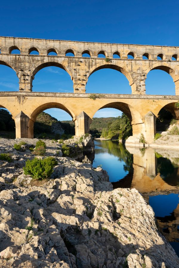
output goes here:
{"type": "Polygon", "coordinates": [[[29,120],[29,136],[37,138],[66,139],[75,135],[72,113],[59,103],[47,103],[38,107],[29,120]]]}

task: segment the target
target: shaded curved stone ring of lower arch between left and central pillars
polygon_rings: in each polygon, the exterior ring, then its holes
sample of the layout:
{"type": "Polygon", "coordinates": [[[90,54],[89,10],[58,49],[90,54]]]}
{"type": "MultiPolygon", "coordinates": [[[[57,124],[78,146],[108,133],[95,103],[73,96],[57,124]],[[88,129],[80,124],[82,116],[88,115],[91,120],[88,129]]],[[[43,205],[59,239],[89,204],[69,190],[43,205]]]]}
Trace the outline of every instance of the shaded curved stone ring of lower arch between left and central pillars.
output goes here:
{"type": "Polygon", "coordinates": [[[75,114],[72,112],[72,110],[70,108],[67,108],[65,105],[63,105],[61,103],[58,103],[58,102],[46,102],[44,104],[41,104],[35,110],[33,110],[33,112],[30,115],[30,119],[29,119],[29,122],[28,122],[28,137],[29,138],[33,138],[34,122],[36,121],[36,118],[39,115],[39,113],[43,112],[46,109],[50,109],[50,108],[59,108],[61,110],[64,110],[65,112],[67,112],[72,117],[72,119],[75,119],[75,114]]]}

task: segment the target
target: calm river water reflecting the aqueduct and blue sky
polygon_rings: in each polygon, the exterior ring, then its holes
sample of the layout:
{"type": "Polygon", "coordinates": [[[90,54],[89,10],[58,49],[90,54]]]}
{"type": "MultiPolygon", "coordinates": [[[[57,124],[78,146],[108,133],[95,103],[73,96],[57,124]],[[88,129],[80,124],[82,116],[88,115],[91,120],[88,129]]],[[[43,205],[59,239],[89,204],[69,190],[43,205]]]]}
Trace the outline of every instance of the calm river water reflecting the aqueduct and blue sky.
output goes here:
{"type": "Polygon", "coordinates": [[[179,256],[179,150],[95,140],[92,162],[108,172],[113,188],[136,188],[143,195],[179,256]]]}

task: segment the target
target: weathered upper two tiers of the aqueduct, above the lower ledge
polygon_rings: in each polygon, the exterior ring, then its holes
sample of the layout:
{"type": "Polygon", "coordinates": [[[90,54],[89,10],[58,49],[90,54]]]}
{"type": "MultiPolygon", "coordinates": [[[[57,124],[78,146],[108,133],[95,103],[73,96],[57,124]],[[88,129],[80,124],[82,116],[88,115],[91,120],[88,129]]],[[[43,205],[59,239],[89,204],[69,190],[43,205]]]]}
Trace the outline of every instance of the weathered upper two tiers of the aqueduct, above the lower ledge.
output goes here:
{"type": "Polygon", "coordinates": [[[65,40],[0,37],[0,64],[13,68],[20,91],[32,91],[35,74],[47,66],[58,66],[70,74],[74,93],[85,93],[88,77],[102,68],[123,73],[132,94],[145,94],[149,71],[160,69],[170,74],[179,95],[179,47],[134,44],[92,43],[65,40]],[[12,54],[18,49],[20,54],[12,54]],[[36,51],[39,54],[30,54],[36,51]],[[55,52],[52,56],[49,53],[55,52]],[[74,56],[67,56],[71,52],[74,56]],[[88,54],[88,57],[84,57],[88,54]],[[103,54],[104,58],[98,57],[103,54]],[[114,58],[117,55],[118,58],[114,58]],[[128,56],[133,58],[128,58],[128,56]],[[145,58],[145,59],[144,59],[145,58]]]}

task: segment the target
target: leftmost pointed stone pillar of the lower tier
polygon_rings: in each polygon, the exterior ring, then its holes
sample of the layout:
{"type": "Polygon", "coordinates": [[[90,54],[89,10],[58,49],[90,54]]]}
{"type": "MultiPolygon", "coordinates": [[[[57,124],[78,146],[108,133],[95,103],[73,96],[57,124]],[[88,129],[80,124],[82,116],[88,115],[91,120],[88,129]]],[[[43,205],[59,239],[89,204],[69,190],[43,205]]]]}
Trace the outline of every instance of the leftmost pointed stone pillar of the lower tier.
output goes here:
{"type": "Polygon", "coordinates": [[[16,138],[28,138],[29,117],[21,111],[14,119],[16,123],[16,138]]]}

